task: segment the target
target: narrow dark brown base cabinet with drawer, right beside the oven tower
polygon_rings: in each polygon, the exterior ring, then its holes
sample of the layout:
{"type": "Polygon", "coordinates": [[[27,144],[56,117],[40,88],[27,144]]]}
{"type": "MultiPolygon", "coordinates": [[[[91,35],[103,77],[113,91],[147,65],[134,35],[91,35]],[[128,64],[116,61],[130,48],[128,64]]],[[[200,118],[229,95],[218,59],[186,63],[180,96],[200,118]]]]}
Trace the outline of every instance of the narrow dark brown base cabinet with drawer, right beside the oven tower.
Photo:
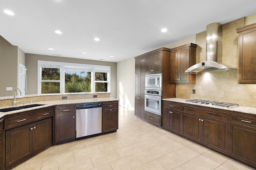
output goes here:
{"type": "Polygon", "coordinates": [[[163,128],[181,134],[181,105],[176,102],[163,101],[163,128]]]}

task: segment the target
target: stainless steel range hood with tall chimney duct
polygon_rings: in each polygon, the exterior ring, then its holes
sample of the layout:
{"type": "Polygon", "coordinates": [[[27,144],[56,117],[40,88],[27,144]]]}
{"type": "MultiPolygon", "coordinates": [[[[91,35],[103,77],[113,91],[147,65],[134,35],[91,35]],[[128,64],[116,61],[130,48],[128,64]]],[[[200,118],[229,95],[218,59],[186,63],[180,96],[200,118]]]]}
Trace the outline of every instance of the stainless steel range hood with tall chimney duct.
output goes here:
{"type": "Polygon", "coordinates": [[[222,25],[218,22],[206,25],[206,61],[194,64],[185,73],[237,70],[225,64],[217,63],[222,57],[222,25]]]}

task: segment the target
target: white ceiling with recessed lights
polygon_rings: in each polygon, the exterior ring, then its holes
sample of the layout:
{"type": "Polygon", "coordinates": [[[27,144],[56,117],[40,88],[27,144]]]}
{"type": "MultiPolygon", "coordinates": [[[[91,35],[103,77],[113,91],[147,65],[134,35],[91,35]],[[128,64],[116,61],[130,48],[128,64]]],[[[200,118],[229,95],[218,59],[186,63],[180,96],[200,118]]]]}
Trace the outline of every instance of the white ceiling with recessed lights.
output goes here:
{"type": "Polygon", "coordinates": [[[255,14],[256,0],[0,0],[0,9],[0,35],[24,53],[119,62],[255,14]]]}

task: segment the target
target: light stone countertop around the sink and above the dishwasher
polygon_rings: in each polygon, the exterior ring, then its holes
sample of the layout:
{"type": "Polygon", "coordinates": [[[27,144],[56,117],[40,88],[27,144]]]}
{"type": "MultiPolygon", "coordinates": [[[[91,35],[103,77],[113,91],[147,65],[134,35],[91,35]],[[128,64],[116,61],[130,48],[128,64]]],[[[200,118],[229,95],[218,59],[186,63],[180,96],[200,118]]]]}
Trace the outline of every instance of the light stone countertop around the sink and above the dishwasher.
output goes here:
{"type": "MultiPolygon", "coordinates": [[[[26,109],[15,110],[15,111],[0,112],[0,118],[3,117],[4,115],[11,115],[14,113],[20,113],[20,112],[24,112],[24,111],[40,109],[40,108],[49,107],[49,106],[66,105],[66,104],[81,104],[81,103],[91,103],[91,102],[110,102],[110,101],[118,101],[118,99],[116,99],[116,98],[88,98],[88,99],[75,99],[75,100],[53,100],[53,101],[34,102],[33,104],[44,104],[44,105],[30,107],[30,108],[26,108],[26,109]]],[[[31,105],[31,104],[17,105],[16,107],[26,106],[26,105],[31,105]]],[[[10,108],[10,107],[13,107],[13,106],[0,107],[0,109],[10,108]]]]}

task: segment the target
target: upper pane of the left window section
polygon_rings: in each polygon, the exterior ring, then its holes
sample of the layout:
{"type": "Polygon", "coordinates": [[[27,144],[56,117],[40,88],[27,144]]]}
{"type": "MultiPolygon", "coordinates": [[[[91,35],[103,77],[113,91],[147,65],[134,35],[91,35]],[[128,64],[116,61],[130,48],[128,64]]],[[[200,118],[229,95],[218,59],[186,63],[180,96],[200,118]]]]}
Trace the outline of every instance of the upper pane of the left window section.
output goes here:
{"type": "Polygon", "coordinates": [[[42,68],[42,80],[60,80],[60,68],[42,68]]]}

